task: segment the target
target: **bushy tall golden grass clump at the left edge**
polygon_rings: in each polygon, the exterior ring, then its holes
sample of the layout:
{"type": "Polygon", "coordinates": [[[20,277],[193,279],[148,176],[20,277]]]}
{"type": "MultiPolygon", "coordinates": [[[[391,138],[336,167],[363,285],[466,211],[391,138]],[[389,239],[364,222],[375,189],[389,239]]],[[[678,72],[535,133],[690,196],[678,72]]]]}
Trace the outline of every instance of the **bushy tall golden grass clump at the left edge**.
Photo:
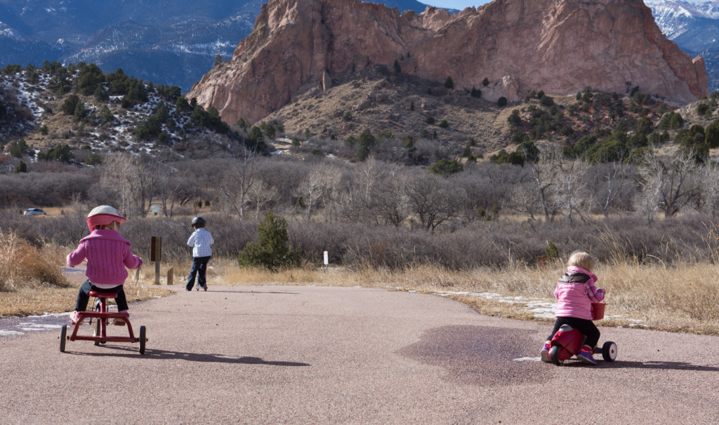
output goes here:
{"type": "Polygon", "coordinates": [[[14,233],[0,231],[0,291],[37,286],[68,286],[60,248],[32,246],[14,233]]]}

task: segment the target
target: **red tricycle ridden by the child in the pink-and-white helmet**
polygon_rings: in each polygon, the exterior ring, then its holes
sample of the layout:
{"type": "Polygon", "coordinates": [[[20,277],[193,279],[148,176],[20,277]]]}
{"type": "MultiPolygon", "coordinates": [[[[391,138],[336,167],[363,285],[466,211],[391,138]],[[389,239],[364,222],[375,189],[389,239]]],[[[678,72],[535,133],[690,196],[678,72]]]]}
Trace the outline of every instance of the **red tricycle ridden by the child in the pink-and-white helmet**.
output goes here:
{"type": "Polygon", "coordinates": [[[107,310],[107,299],[116,298],[117,294],[114,292],[96,292],[90,291],[90,296],[94,296],[98,301],[96,308],[92,312],[79,312],[80,318],[75,323],[73,334],[68,336],[68,325],[63,324],[62,330],[60,330],[60,352],[65,352],[66,341],[94,341],[95,345],[104,344],[105,342],[139,342],[139,353],[145,354],[145,337],[147,331],[144,326],[139,327],[139,337],[135,337],[132,333],[132,324],[129,321],[129,314],[127,313],[112,313],[107,310]],[[95,332],[94,335],[78,335],[80,324],[85,320],[95,319],[95,332]],[[129,332],[128,337],[109,337],[107,335],[107,324],[109,319],[120,319],[127,324],[127,330],[129,332]]]}

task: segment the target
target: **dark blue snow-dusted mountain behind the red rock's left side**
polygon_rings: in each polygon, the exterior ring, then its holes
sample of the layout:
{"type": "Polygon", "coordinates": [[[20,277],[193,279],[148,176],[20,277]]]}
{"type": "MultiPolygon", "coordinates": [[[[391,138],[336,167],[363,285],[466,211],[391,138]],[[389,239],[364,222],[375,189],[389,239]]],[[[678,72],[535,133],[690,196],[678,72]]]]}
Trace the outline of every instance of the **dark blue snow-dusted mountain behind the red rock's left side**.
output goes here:
{"type": "MultiPolygon", "coordinates": [[[[0,67],[96,63],[184,91],[232,57],[266,0],[0,0],[0,67]]],[[[416,0],[386,0],[423,11],[416,0]]]]}

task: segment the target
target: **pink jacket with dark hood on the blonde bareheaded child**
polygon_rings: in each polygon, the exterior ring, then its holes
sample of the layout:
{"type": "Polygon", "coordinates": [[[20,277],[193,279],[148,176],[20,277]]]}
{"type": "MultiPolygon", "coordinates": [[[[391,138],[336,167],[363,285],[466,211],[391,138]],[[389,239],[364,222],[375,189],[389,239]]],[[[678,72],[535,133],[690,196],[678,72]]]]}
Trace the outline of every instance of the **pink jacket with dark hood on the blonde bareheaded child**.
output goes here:
{"type": "Polygon", "coordinates": [[[557,297],[556,317],[577,317],[577,319],[592,319],[592,302],[601,302],[604,299],[604,289],[597,289],[595,283],[597,276],[581,267],[570,266],[559,279],[554,296],[557,297]],[[585,274],[589,279],[573,274],[585,274]]]}

